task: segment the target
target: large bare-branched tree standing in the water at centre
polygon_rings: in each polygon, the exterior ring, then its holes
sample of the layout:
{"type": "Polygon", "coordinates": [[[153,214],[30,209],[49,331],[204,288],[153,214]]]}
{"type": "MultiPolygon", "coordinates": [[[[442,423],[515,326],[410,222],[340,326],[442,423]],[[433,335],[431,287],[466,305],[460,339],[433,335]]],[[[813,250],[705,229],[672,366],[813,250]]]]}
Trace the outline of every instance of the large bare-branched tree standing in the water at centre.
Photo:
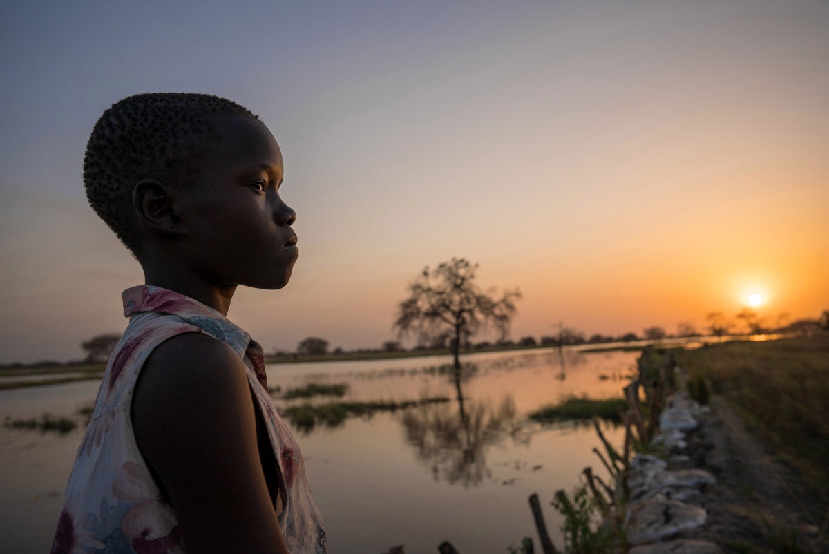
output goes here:
{"type": "Polygon", "coordinates": [[[400,303],[394,327],[400,336],[410,333],[424,343],[449,333],[455,369],[460,369],[460,347],[475,333],[492,325],[505,338],[512,316],[516,313],[515,300],[521,298],[516,290],[504,291],[500,299],[493,291],[482,292],[475,284],[478,264],[463,258],[453,258],[434,270],[423,273],[409,285],[410,296],[400,303]]]}

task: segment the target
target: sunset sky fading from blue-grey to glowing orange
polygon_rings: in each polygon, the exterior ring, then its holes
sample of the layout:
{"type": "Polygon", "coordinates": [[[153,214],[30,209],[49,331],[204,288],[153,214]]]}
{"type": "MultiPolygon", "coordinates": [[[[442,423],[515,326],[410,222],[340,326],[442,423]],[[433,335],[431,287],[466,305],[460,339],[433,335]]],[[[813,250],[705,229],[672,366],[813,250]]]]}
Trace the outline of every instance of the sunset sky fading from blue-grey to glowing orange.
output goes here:
{"type": "Polygon", "coordinates": [[[424,265],[519,287],[512,338],[829,309],[829,2],[3,2],[0,362],[120,332],[138,264],[86,139],[138,92],[268,124],[298,212],[267,351],[378,347],[424,265]],[[169,4],[169,5],[168,5],[169,4]]]}

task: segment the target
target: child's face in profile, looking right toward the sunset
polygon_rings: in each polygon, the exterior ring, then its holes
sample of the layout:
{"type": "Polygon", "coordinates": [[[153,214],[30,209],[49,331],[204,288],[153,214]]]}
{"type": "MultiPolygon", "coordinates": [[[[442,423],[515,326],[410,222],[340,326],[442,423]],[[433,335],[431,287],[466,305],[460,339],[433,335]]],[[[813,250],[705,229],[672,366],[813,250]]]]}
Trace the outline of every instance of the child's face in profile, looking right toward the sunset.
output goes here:
{"type": "Polygon", "coordinates": [[[296,213],[279,197],[282,153],[255,119],[217,116],[217,144],[201,148],[200,170],[180,212],[191,270],[211,285],[281,289],[299,255],[296,213]]]}

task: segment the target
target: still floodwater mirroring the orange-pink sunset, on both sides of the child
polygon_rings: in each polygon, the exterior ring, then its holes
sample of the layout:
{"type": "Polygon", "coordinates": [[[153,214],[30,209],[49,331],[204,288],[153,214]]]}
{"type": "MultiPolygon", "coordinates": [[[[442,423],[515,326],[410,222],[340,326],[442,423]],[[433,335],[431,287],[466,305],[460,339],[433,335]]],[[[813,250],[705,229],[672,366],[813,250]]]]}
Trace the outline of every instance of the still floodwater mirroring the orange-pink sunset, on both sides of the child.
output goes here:
{"type": "MultiPolygon", "coordinates": [[[[555,491],[572,488],[587,465],[607,477],[591,452],[599,445],[592,428],[539,425],[527,414],[570,394],[621,396],[636,357],[566,348],[473,354],[463,357],[470,367],[459,382],[437,371],[448,357],[278,364],[268,376],[281,391],[346,384],[342,401],[449,399],[335,426],[293,425],[332,552],[379,554],[403,544],[408,554],[426,554],[448,540],[463,554],[503,554],[536,537],[531,493],[560,544],[555,491]]],[[[48,412],[80,420],[97,389],[83,381],[0,391],[0,418],[48,412]]],[[[305,402],[274,396],[278,408],[305,402]]],[[[605,433],[622,442],[621,429],[605,433]]],[[[2,552],[48,552],[81,435],[0,427],[2,552]]]]}

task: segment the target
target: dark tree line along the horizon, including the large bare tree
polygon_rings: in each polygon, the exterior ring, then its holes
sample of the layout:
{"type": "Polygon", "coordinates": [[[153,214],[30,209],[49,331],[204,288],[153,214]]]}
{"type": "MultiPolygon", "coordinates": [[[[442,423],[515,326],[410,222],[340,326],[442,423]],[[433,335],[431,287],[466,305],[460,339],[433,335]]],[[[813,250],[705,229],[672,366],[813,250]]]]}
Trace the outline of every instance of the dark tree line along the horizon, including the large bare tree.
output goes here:
{"type": "MultiPolygon", "coordinates": [[[[410,284],[410,295],[400,303],[394,327],[399,338],[413,334],[417,344],[410,351],[450,351],[456,366],[459,366],[458,352],[473,350],[497,350],[517,347],[565,347],[579,344],[628,343],[640,339],[660,341],[664,338],[691,338],[707,334],[723,337],[728,334],[791,333],[810,335],[829,330],[829,309],[823,310],[817,318],[800,318],[790,321],[788,313],[778,313],[775,318],[761,317],[753,309],[741,309],[728,317],[721,311],[710,312],[705,318],[704,332],[693,323],[681,321],[676,333],[668,333],[658,325],[642,329],[642,334],[628,332],[620,335],[593,333],[587,335],[575,328],[557,323],[555,333],[539,338],[525,336],[517,341],[508,338],[509,325],[516,313],[515,302],[521,298],[517,290],[505,290],[500,297],[492,289],[482,291],[475,282],[477,264],[463,258],[453,258],[429,271],[425,268],[418,279],[410,284]],[[485,328],[494,328],[497,339],[473,343],[474,336],[485,328]],[[707,332],[707,333],[705,333],[707,332]]],[[[73,366],[84,363],[103,363],[118,344],[119,333],[101,333],[80,343],[85,352],[82,360],[57,362],[41,360],[32,363],[14,362],[0,364],[0,367],[41,367],[73,366]]],[[[330,343],[324,338],[304,338],[293,352],[276,351],[277,357],[325,356],[329,353],[376,353],[405,352],[400,340],[387,340],[377,348],[357,348],[345,351],[335,347],[329,351],[330,343]]]]}

